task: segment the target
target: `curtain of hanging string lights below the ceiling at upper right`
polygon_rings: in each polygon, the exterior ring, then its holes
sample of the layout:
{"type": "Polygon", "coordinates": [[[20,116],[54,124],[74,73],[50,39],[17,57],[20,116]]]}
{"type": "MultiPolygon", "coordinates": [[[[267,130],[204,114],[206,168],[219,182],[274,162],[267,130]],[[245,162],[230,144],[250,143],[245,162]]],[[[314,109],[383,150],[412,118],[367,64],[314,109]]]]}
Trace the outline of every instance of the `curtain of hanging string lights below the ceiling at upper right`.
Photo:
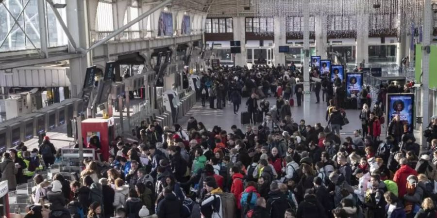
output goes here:
{"type": "MultiPolygon", "coordinates": [[[[423,0],[252,0],[252,6],[256,17],[285,17],[286,24],[280,28],[288,35],[302,34],[303,7],[310,7],[310,31],[314,17],[321,16],[321,28],[338,37],[358,33],[363,24],[369,25],[369,34],[410,32],[422,25],[423,13],[423,0]]],[[[273,34],[266,29],[256,33],[273,34]]]]}

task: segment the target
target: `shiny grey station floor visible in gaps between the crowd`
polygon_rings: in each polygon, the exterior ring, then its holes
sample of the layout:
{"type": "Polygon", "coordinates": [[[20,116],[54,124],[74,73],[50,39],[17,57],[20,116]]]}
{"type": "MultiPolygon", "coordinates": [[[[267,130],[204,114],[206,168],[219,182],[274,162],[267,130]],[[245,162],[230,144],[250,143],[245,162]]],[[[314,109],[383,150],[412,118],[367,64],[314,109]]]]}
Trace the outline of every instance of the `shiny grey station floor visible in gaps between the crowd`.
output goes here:
{"type": "MultiPolygon", "coordinates": [[[[325,121],[327,109],[326,103],[315,104],[316,96],[314,93],[311,94],[311,98],[309,112],[310,116],[309,119],[306,120],[306,124],[315,125],[316,123],[321,123],[323,126],[325,126],[327,124],[325,121]]],[[[203,108],[201,102],[198,102],[183,118],[179,119],[178,123],[183,124],[183,128],[185,129],[187,125],[187,119],[190,116],[193,116],[198,122],[202,122],[206,128],[208,128],[208,130],[211,130],[215,125],[220,126],[226,131],[230,131],[231,126],[234,124],[243,127],[240,125],[240,112],[246,110],[246,100],[247,99],[242,99],[243,104],[241,104],[238,114],[234,114],[233,105],[228,104],[228,102],[226,108],[221,110],[209,109],[208,102],[206,107],[203,108]]],[[[276,104],[276,99],[274,97],[269,97],[268,100],[270,102],[270,107],[276,104]]],[[[291,108],[291,113],[295,122],[299,123],[299,121],[303,119],[303,106],[297,107],[296,100],[295,106],[291,108]]],[[[343,126],[343,129],[340,130],[340,135],[351,135],[353,130],[361,128],[361,122],[358,119],[359,113],[360,110],[346,110],[346,114],[350,123],[343,126]]],[[[244,131],[244,129],[245,128],[242,130],[244,131]]],[[[383,129],[383,132],[385,132],[385,129],[383,129]]]]}

